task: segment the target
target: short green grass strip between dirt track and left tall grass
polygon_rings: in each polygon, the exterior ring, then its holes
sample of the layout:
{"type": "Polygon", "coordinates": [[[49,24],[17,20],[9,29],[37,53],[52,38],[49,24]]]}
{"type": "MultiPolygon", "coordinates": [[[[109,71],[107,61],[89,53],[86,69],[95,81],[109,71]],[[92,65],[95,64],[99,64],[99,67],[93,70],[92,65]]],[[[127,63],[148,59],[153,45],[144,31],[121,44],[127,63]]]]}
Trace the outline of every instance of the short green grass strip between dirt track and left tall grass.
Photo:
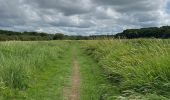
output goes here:
{"type": "Polygon", "coordinates": [[[36,74],[32,87],[28,89],[27,99],[63,100],[63,89],[70,85],[71,59],[69,50],[62,58],[49,61],[48,68],[36,74]]]}

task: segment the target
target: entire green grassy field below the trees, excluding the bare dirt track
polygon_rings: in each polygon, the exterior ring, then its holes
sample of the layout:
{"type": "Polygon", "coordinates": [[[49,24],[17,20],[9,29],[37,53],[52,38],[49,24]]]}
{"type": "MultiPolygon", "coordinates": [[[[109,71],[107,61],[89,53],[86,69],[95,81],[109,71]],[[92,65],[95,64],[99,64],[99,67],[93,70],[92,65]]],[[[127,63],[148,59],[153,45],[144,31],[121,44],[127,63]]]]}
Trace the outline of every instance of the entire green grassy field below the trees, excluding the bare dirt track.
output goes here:
{"type": "Polygon", "coordinates": [[[0,100],[69,99],[73,59],[80,100],[170,99],[170,40],[138,39],[0,42],[0,100]]]}

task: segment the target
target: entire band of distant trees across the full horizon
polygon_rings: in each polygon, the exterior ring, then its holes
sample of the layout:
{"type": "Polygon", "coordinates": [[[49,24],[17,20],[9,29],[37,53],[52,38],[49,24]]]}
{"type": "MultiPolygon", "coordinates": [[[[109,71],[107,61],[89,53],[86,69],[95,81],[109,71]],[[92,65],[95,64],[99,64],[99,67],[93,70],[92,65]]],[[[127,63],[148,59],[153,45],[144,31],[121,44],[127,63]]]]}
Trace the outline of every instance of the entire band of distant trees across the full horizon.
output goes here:
{"type": "Polygon", "coordinates": [[[14,32],[0,30],[0,41],[47,41],[47,40],[94,40],[110,38],[170,38],[170,26],[150,27],[141,29],[127,29],[116,35],[69,36],[62,33],[48,34],[39,32],[14,32]]]}

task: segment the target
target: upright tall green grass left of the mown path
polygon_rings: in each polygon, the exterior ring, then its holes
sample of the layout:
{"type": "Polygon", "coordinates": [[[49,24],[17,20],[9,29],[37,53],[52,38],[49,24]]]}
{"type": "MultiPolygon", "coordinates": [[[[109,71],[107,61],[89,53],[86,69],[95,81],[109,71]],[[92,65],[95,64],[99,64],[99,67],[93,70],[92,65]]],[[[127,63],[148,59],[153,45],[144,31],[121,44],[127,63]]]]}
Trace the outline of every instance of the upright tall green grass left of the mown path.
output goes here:
{"type": "Polygon", "coordinates": [[[62,57],[66,42],[1,42],[0,97],[11,90],[25,90],[36,71],[48,67],[49,60],[62,57]]]}

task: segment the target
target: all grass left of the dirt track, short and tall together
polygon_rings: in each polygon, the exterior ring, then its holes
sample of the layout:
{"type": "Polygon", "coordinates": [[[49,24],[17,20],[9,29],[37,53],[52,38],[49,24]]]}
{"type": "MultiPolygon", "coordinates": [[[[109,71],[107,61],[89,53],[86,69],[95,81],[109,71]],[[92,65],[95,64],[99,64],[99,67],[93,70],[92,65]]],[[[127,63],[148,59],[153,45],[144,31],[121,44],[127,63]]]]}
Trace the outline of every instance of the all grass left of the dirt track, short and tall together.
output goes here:
{"type": "Polygon", "coordinates": [[[53,98],[52,92],[63,97],[60,90],[70,73],[69,45],[69,41],[1,42],[0,98],[38,100],[42,95],[53,98]]]}

